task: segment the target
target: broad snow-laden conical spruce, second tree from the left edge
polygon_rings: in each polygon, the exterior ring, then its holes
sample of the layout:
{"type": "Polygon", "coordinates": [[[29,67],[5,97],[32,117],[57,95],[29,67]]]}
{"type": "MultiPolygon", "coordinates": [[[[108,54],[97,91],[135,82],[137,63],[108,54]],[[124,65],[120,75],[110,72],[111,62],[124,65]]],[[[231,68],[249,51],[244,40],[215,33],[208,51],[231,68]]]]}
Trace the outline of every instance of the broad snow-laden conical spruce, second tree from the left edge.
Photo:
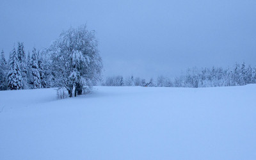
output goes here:
{"type": "Polygon", "coordinates": [[[8,88],[10,90],[20,90],[23,87],[22,74],[20,72],[20,64],[15,46],[10,52],[9,72],[8,72],[8,88]]]}

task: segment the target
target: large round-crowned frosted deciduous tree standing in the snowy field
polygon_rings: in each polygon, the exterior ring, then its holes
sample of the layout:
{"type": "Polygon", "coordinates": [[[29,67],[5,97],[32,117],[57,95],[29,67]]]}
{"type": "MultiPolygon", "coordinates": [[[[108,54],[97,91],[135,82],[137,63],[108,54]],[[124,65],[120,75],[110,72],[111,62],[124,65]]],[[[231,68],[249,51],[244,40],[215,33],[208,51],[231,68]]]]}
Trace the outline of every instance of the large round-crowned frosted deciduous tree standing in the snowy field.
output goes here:
{"type": "Polygon", "coordinates": [[[97,49],[94,31],[86,26],[70,28],[49,47],[56,86],[65,87],[69,97],[73,89],[81,94],[83,88],[90,89],[101,78],[102,61],[97,49]]]}

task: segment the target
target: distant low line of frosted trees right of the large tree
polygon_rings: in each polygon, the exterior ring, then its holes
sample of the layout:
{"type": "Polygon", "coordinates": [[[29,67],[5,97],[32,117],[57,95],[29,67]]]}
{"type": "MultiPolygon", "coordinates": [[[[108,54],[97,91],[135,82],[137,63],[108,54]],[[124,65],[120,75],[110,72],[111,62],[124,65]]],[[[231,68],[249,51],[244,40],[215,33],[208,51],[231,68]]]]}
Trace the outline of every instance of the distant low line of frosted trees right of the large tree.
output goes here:
{"type": "Polygon", "coordinates": [[[188,68],[184,76],[175,78],[159,76],[156,81],[149,81],[141,77],[107,77],[103,86],[160,86],[160,87],[216,87],[216,86],[243,86],[256,83],[256,68],[245,63],[236,63],[232,68],[188,68]]]}

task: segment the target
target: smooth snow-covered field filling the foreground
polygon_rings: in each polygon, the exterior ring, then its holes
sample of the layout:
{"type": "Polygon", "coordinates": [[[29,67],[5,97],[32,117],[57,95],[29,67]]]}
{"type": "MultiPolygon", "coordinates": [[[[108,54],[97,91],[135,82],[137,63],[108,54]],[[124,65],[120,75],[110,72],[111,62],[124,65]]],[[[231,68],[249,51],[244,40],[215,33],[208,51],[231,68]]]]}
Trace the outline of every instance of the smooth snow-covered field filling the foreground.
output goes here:
{"type": "Polygon", "coordinates": [[[0,92],[0,159],[256,159],[256,85],[0,92]]]}

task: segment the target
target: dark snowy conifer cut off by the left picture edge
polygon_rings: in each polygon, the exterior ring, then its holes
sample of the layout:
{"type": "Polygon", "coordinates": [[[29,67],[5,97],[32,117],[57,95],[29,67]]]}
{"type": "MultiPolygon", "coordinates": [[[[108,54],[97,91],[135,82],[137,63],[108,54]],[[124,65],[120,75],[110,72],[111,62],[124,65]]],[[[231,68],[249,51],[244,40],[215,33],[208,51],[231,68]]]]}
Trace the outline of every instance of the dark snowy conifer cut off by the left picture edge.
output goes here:
{"type": "Polygon", "coordinates": [[[2,50],[0,56],[0,90],[7,90],[7,72],[8,67],[4,58],[4,51],[2,50]]]}

